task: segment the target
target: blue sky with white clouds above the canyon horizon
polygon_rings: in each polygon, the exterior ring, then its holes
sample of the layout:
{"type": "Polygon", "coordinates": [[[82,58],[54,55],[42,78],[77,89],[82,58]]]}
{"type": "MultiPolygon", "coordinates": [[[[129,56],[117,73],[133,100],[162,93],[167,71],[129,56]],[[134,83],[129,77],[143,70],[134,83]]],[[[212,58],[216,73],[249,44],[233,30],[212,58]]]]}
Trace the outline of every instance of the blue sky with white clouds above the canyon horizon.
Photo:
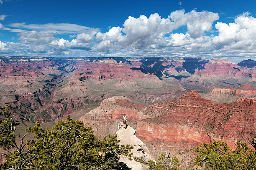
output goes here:
{"type": "Polygon", "coordinates": [[[256,1],[0,0],[0,56],[256,60],[256,1]]]}

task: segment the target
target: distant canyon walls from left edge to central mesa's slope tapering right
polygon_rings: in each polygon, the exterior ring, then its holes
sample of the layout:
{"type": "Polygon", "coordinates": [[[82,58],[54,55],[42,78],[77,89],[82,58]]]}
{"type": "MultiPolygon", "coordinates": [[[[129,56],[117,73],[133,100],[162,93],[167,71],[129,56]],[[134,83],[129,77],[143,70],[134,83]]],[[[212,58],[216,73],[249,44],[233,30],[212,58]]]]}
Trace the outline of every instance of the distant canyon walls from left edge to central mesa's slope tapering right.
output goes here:
{"type": "Polygon", "coordinates": [[[185,89],[113,59],[5,57],[0,65],[0,104],[15,119],[57,121],[106,97],[127,95],[139,103],[182,96],[185,89]]]}

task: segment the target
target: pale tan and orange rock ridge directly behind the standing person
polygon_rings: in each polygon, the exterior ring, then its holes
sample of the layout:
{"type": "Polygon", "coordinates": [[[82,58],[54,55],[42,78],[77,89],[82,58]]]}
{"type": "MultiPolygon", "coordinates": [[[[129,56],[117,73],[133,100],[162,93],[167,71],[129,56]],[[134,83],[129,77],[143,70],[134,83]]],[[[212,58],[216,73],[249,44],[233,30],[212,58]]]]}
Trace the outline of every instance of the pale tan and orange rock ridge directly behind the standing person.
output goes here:
{"type": "Polygon", "coordinates": [[[129,115],[129,125],[136,129],[136,122],[143,118],[143,110],[146,106],[132,104],[127,97],[113,96],[102,100],[100,106],[83,115],[79,120],[84,122],[85,126],[93,127],[95,135],[103,138],[107,134],[114,135],[117,130],[117,124],[123,118],[123,114],[129,115]],[[131,122],[132,121],[132,122],[131,122]]]}

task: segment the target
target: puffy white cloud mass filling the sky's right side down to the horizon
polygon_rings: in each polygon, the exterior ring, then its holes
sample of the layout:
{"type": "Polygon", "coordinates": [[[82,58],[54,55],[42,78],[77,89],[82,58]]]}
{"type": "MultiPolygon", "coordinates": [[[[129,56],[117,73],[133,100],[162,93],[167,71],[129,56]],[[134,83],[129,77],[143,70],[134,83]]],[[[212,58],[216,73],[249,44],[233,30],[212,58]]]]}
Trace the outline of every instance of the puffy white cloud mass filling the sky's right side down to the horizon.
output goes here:
{"type": "MultiPolygon", "coordinates": [[[[184,10],[172,12],[168,18],[161,18],[157,13],[147,18],[129,17],[122,27],[113,27],[108,32],[98,32],[97,44],[93,50],[129,55],[146,56],[187,56],[204,57],[206,55],[232,56],[252,55],[256,52],[256,18],[244,13],[234,23],[220,23],[215,26],[217,36],[205,35],[211,32],[213,22],[219,19],[218,13],[184,10]],[[172,33],[182,26],[187,26],[186,33],[172,33]],[[169,37],[166,34],[169,33],[169,37]],[[120,46],[120,50],[116,45],[120,46]],[[114,49],[114,50],[113,50],[114,49]],[[124,51],[132,50],[128,54],[124,51]]],[[[110,55],[110,54],[108,54],[110,55]]]]}

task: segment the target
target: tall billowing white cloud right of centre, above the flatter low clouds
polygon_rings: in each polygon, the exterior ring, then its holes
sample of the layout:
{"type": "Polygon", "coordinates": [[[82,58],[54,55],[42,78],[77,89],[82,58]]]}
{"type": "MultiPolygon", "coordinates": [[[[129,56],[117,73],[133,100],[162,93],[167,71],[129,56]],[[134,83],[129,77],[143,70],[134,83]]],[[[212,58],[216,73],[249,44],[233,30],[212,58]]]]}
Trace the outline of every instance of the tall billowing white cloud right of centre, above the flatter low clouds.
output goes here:
{"type": "Polygon", "coordinates": [[[197,38],[210,31],[212,23],[218,18],[218,13],[195,10],[189,13],[177,10],[168,18],[161,18],[158,13],[151,14],[148,18],[145,15],[139,18],[129,16],[123,28],[113,27],[105,33],[97,32],[96,40],[104,41],[99,44],[100,47],[105,45],[104,49],[110,47],[110,43],[118,43],[123,47],[159,47],[165,41],[166,34],[181,26],[187,26],[190,37],[197,38]],[[107,40],[109,43],[106,43],[107,40]]]}

